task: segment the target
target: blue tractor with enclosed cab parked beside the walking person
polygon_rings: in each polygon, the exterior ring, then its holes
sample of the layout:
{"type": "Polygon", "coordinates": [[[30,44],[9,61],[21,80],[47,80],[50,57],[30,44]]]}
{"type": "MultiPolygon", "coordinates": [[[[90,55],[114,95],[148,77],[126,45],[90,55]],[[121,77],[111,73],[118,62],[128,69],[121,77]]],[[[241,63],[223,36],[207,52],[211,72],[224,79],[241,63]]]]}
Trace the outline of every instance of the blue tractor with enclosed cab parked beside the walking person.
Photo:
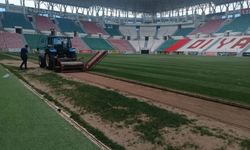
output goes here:
{"type": "Polygon", "coordinates": [[[83,70],[84,63],[77,60],[76,50],[72,48],[71,37],[41,37],[37,46],[39,66],[57,72],[83,70]]]}

